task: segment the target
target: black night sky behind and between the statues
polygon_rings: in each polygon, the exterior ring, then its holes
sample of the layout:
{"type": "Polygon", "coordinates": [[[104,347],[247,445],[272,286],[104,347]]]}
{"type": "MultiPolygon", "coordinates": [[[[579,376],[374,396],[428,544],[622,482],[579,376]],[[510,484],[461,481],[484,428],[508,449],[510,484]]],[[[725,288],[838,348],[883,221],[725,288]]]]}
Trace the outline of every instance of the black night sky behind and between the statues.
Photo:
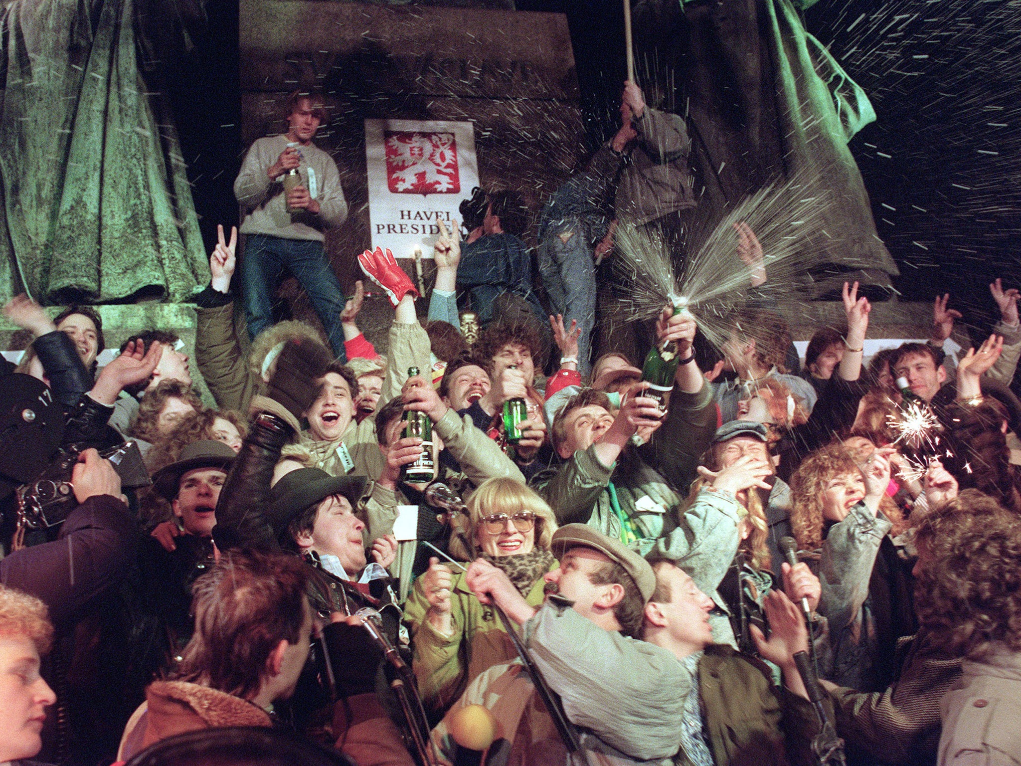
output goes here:
{"type": "MultiPolygon", "coordinates": [[[[620,0],[519,0],[568,16],[592,149],[616,129],[624,80],[620,0]]],[[[212,0],[194,48],[169,63],[169,98],[209,245],[237,223],[232,185],[240,139],[238,8],[212,0]]],[[[976,330],[987,283],[1021,283],[1021,142],[1017,139],[1021,12],[1012,0],[819,0],[806,27],[865,88],[877,123],[852,142],[879,236],[908,300],[954,293],[976,330]]],[[[641,51],[636,50],[641,57],[641,51]]],[[[639,62],[640,73],[643,63],[639,62]]],[[[650,84],[641,83],[648,88],[650,84]]]]}

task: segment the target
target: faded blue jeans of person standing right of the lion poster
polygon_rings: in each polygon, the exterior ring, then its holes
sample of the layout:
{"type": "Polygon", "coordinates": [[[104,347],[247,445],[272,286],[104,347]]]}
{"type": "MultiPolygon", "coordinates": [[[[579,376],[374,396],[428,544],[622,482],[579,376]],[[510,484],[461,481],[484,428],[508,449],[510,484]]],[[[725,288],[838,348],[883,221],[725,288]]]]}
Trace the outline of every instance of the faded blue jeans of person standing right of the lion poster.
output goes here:
{"type": "Polygon", "coordinates": [[[551,225],[539,244],[539,274],[556,314],[564,315],[564,329],[578,322],[578,372],[592,371],[592,329],[595,327],[595,267],[588,244],[588,227],[575,217],[551,225]],[[567,242],[561,235],[567,237],[567,242]]]}

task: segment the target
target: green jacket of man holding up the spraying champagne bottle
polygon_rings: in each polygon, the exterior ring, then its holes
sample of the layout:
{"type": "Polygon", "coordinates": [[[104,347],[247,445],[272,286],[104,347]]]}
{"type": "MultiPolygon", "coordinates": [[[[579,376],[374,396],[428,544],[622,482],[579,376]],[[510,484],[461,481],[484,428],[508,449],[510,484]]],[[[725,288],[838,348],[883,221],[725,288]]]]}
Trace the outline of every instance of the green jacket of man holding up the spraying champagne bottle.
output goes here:
{"type": "Polygon", "coordinates": [[[637,450],[629,446],[621,460],[609,467],[599,463],[593,447],[578,450],[558,468],[536,476],[533,486],[562,525],[588,524],[622,539],[623,515],[635,526],[640,538],[637,547],[645,554],[654,540],[677,527],[677,511],[683,500],[680,492],[693,478],[697,458],[716,430],[716,420],[710,386],[694,394],[675,388],[667,422],[650,444],[637,450]],[[655,467],[648,460],[653,460],[655,467]],[[664,478],[667,475],[674,481],[664,478]]]}

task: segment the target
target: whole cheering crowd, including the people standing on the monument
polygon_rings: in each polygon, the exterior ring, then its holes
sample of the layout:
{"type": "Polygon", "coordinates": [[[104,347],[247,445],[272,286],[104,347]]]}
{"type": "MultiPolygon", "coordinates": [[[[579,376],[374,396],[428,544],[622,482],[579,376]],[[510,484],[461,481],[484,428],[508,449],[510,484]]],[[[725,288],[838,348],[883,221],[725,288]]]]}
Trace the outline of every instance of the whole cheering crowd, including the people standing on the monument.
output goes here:
{"type": "Polygon", "coordinates": [[[845,284],[803,361],[739,225],[719,348],[673,303],[629,323],[615,234],[682,249],[696,206],[684,122],[629,83],[534,253],[478,191],[428,296],[358,257],[382,356],[325,256],[322,103],[286,112],[196,296],[215,408],[173,333],[97,370],[94,310],[4,307],[34,340],[0,377],[0,763],[1021,762],[1017,289],[977,349],[944,354],[942,296],[866,367],[845,284]],[[326,335],[274,324],[284,273],[326,335]]]}

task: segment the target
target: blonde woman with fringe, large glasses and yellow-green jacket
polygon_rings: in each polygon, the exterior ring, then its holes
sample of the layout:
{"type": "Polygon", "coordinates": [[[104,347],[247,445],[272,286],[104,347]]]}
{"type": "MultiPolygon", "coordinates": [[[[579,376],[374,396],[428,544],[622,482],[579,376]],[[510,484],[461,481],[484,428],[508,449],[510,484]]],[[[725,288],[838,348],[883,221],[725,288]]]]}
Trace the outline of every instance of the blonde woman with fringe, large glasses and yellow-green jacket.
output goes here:
{"type": "MultiPolygon", "coordinates": [[[[556,521],[549,506],[521,482],[497,478],[472,494],[468,512],[467,540],[452,539],[450,554],[466,562],[477,556],[502,569],[538,607],[543,575],[556,568],[549,550],[556,521]],[[466,541],[475,549],[467,549],[466,541]]],[[[465,584],[464,570],[435,558],[407,596],[404,621],[411,631],[419,691],[437,716],[480,673],[518,656],[499,618],[465,584]]]]}

